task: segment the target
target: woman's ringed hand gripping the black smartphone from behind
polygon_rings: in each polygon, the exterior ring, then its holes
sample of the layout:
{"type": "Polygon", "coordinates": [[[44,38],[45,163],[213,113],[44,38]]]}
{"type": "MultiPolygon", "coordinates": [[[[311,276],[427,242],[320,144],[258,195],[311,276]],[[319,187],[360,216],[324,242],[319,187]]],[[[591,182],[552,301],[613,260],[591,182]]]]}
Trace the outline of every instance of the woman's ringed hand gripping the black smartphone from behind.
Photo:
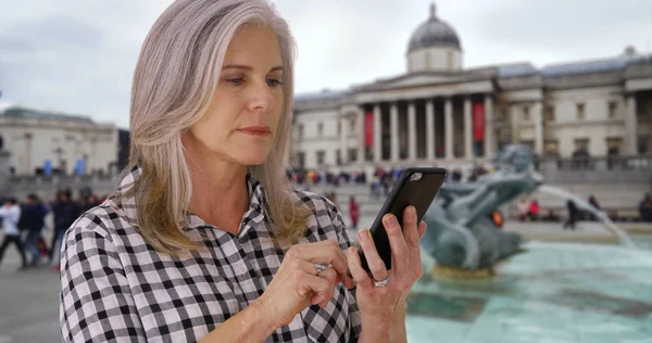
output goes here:
{"type": "Polygon", "coordinates": [[[419,240],[426,231],[426,223],[417,225],[414,206],[408,206],[403,212],[403,230],[391,214],[385,215],[383,223],[391,246],[390,270],[387,270],[378,255],[368,229],[360,230],[358,239],[371,276],[362,268],[356,249],[350,247],[348,251],[349,269],[358,283],[355,297],[363,332],[366,331],[365,327],[391,330],[392,325],[400,323],[404,328],[408,293],[423,274],[419,240]],[[375,284],[387,278],[386,285],[375,284]]]}

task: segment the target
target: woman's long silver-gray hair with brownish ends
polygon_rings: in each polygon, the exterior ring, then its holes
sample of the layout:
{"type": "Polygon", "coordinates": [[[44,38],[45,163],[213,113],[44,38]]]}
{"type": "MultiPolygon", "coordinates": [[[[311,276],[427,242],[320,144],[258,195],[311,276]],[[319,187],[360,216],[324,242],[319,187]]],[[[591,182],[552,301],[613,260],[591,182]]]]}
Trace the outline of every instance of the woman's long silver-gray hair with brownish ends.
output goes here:
{"type": "Polygon", "coordinates": [[[284,64],[284,107],[266,161],[249,166],[264,187],[276,239],[304,233],[306,208],[296,207],[285,175],[291,130],[294,43],[289,27],[265,0],[177,0],[148,34],[134,72],[129,166],[140,178],[128,190],[137,208],[136,227],[158,251],[178,254],[199,245],[184,232],[191,179],[181,135],[208,111],[228,45],[242,25],[272,28],[284,64]]]}

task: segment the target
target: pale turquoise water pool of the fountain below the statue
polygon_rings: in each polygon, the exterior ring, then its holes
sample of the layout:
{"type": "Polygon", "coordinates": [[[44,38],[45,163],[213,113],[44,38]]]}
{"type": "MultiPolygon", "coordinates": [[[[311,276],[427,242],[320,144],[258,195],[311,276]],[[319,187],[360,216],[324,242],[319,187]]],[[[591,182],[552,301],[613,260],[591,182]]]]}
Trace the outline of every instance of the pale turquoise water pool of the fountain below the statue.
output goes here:
{"type": "MultiPolygon", "coordinates": [[[[540,241],[524,247],[491,279],[426,274],[409,298],[410,342],[652,342],[652,251],[540,241]]],[[[435,261],[423,259],[431,270],[435,261]]]]}

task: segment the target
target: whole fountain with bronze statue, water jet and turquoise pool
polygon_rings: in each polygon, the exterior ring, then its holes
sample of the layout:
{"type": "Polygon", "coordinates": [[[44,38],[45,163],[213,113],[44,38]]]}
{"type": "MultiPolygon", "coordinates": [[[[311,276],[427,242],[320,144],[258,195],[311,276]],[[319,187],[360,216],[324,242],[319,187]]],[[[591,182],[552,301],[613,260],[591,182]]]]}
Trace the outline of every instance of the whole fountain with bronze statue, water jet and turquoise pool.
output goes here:
{"type": "Polygon", "coordinates": [[[435,274],[409,295],[409,341],[650,342],[652,252],[630,249],[588,202],[542,185],[529,148],[509,147],[496,162],[500,169],[476,182],[446,183],[426,213],[422,261],[435,274]],[[622,245],[523,242],[490,219],[535,190],[592,212],[622,245]]]}

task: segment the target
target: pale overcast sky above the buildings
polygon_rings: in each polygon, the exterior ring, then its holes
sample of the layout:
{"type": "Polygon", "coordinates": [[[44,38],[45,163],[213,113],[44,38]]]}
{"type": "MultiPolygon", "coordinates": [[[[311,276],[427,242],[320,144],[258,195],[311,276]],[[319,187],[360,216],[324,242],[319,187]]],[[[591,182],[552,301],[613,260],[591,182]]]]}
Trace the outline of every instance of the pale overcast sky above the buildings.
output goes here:
{"type": "MultiPolygon", "coordinates": [[[[0,106],[128,126],[131,73],[171,0],[0,0],[0,106]]],[[[276,0],[297,39],[297,91],[344,89],[405,72],[430,0],[276,0]]],[[[438,0],[465,66],[536,66],[652,51],[652,0],[438,0]]]]}

